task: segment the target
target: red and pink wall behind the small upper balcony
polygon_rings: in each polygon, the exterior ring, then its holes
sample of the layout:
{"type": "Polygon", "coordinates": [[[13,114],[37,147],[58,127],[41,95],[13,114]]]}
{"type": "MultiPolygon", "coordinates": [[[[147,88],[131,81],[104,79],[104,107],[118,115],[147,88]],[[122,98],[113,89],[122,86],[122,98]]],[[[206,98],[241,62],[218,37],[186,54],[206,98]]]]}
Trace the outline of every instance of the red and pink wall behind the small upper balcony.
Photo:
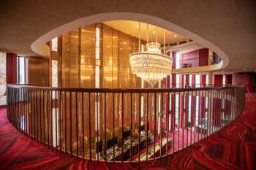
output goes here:
{"type": "Polygon", "coordinates": [[[208,48],[183,53],[181,55],[181,63],[189,63],[191,66],[207,66],[208,65],[208,48]],[[195,59],[194,59],[195,58],[195,59]],[[189,60],[192,59],[192,60],[189,60]]]}

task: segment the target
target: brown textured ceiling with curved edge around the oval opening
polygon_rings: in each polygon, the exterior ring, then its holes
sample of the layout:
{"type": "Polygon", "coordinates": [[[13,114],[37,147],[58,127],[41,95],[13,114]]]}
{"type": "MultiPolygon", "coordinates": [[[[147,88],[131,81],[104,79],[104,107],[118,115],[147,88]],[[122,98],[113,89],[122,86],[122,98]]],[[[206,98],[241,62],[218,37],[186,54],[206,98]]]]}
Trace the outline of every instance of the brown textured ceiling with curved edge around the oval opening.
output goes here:
{"type": "Polygon", "coordinates": [[[255,1],[1,1],[0,50],[37,55],[31,45],[44,35],[48,39],[42,42],[62,34],[58,28],[81,18],[112,15],[129,19],[120,12],[137,14],[131,19],[213,46],[224,57],[226,70],[256,69],[255,1]]]}

